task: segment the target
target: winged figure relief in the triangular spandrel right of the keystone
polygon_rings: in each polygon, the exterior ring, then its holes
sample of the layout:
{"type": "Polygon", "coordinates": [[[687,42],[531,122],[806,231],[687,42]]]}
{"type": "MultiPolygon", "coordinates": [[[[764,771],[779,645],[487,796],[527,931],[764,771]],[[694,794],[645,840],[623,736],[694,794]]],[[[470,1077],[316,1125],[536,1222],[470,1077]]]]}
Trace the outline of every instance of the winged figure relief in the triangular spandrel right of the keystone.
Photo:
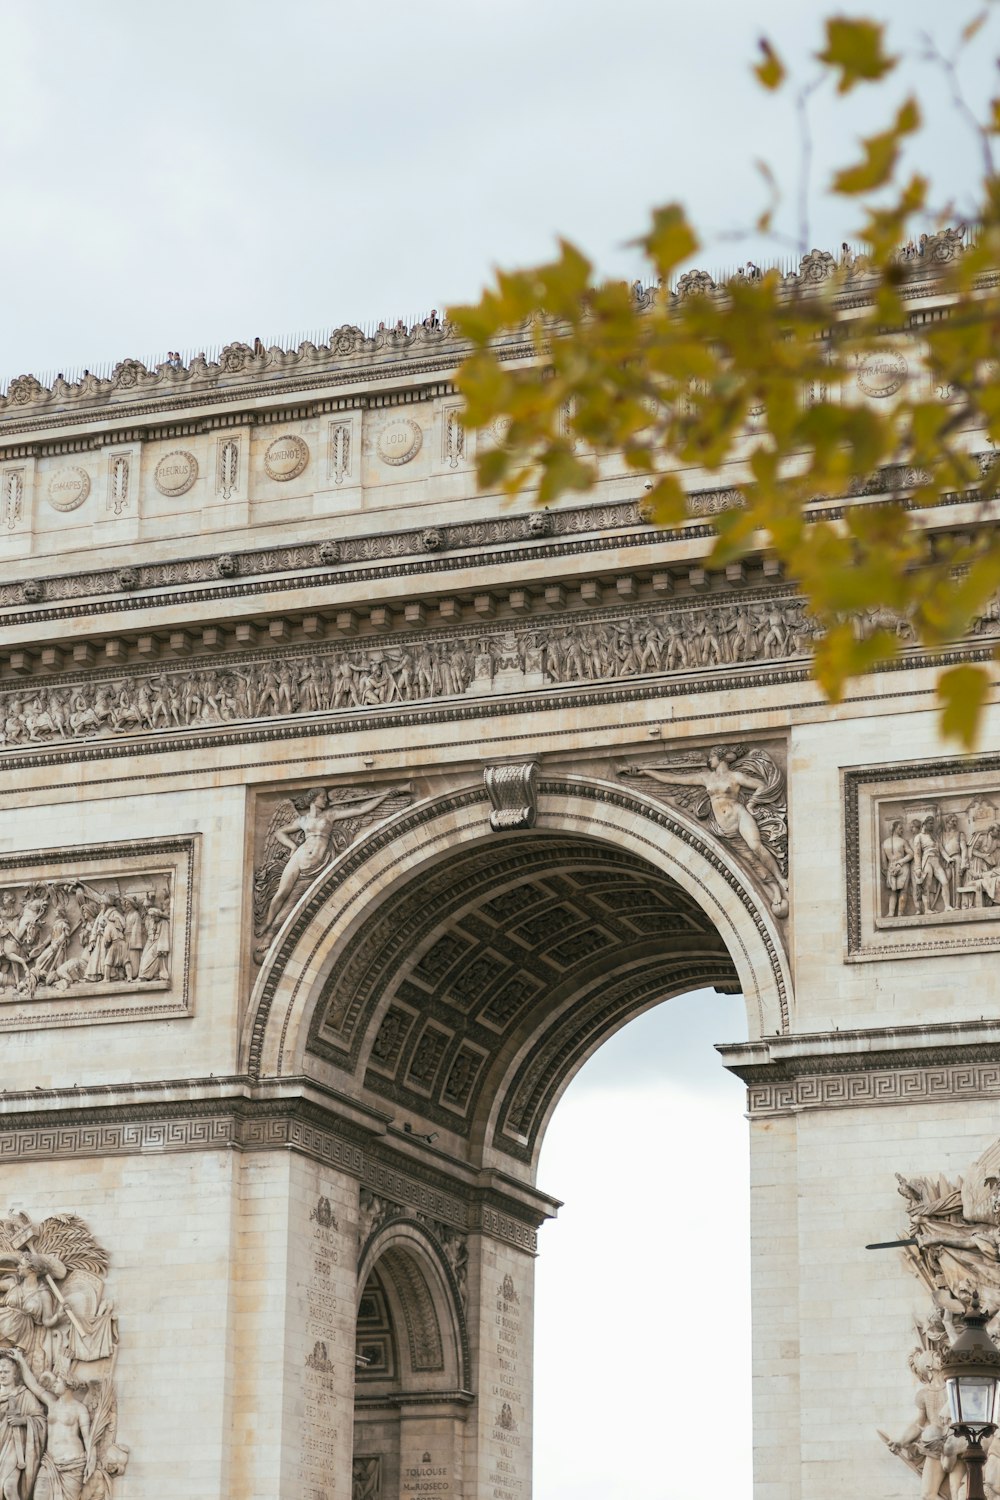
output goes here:
{"type": "Polygon", "coordinates": [[[750,868],[775,916],[789,915],[786,778],[768,750],[732,744],[675,752],[622,766],[619,776],[705,822],[750,868]]]}

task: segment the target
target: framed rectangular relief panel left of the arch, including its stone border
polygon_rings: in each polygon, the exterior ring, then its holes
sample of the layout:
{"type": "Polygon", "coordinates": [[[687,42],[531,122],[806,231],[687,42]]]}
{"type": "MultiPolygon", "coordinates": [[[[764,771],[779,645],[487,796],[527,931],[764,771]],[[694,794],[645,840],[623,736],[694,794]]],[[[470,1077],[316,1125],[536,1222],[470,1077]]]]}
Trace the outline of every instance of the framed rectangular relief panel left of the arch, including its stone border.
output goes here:
{"type": "Polygon", "coordinates": [[[193,838],[0,860],[0,1030],[187,1014],[193,838]]]}

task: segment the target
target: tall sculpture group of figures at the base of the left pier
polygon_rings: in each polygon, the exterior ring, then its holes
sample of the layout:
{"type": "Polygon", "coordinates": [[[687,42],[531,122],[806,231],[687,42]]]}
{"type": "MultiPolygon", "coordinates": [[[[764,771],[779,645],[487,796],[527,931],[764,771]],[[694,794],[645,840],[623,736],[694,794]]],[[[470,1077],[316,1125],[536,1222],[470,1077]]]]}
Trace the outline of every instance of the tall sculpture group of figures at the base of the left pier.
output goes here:
{"type": "Polygon", "coordinates": [[[109,1500],[124,1472],[106,1270],[106,1251],[73,1214],[0,1220],[3,1500],[109,1500]]]}

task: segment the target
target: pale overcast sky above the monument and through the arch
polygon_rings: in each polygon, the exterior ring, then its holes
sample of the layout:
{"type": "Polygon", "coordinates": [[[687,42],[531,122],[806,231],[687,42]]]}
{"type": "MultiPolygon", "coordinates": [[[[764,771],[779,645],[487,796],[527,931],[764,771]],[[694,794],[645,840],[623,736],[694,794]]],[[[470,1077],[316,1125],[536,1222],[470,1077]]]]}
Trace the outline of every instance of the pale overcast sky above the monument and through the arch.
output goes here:
{"type": "MultiPolygon", "coordinates": [[[[625,242],[669,200],[688,204],[709,268],[787,258],[732,237],[765,201],[756,159],[798,184],[792,102],[762,96],[748,62],[762,32],[807,58],[825,9],[0,0],[0,381],[417,318],[558,234],[631,278],[625,242]]],[[[912,54],[921,28],[951,46],[975,8],[871,9],[912,54]]],[[[973,99],[994,51],[987,33],[964,68],[973,99]]],[[[907,81],[930,104],[915,158],[939,198],[967,204],[976,160],[942,81],[916,62],[907,81]]],[[[819,188],[882,123],[861,94],[816,100],[810,243],[850,238],[852,212],[819,188]]],[[[795,238],[793,213],[784,226],[795,238]]],[[[703,1488],[718,1424],[693,1410],[700,1299],[724,1299],[747,1368],[744,1095],[711,1050],[742,1026],[739,1002],[670,1002],[556,1113],[541,1185],[568,1204],[538,1268],[537,1500],[703,1488]]],[[[745,1500],[745,1376],[736,1388],[720,1484],[745,1500]]]]}

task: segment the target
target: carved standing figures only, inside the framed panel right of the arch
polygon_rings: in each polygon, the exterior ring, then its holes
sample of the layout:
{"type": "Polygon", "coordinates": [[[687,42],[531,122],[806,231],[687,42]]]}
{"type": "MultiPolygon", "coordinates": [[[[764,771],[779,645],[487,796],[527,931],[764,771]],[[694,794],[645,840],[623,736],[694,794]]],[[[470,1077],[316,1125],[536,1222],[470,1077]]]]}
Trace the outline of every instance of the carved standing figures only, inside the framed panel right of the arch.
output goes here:
{"type": "Polygon", "coordinates": [[[907,807],[883,819],[883,916],[1000,906],[1000,814],[988,798],[948,812],[907,807]]]}

